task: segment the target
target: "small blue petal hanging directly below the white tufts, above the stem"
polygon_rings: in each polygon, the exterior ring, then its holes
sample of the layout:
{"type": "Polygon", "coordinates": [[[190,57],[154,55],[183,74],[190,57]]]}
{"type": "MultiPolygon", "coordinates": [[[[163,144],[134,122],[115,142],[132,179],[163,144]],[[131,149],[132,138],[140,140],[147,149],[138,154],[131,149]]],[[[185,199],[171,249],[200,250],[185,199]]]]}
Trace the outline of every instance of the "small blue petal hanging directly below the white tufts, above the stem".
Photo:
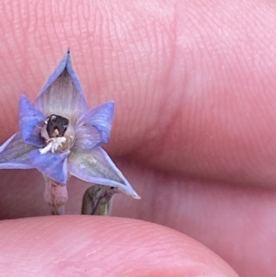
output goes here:
{"type": "Polygon", "coordinates": [[[39,150],[30,152],[29,158],[36,169],[43,175],[59,182],[66,184],[68,180],[67,157],[70,151],[63,153],[46,153],[41,154],[39,150]]]}

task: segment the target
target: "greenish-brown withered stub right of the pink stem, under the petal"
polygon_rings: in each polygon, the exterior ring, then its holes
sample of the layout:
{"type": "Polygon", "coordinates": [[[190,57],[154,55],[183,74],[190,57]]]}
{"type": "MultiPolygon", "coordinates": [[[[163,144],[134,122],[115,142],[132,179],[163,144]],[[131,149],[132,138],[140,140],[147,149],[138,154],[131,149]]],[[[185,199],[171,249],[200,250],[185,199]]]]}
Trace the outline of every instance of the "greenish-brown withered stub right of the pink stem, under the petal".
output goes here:
{"type": "Polygon", "coordinates": [[[119,191],[115,187],[94,184],[83,195],[81,214],[109,216],[111,198],[117,192],[119,191]]]}

